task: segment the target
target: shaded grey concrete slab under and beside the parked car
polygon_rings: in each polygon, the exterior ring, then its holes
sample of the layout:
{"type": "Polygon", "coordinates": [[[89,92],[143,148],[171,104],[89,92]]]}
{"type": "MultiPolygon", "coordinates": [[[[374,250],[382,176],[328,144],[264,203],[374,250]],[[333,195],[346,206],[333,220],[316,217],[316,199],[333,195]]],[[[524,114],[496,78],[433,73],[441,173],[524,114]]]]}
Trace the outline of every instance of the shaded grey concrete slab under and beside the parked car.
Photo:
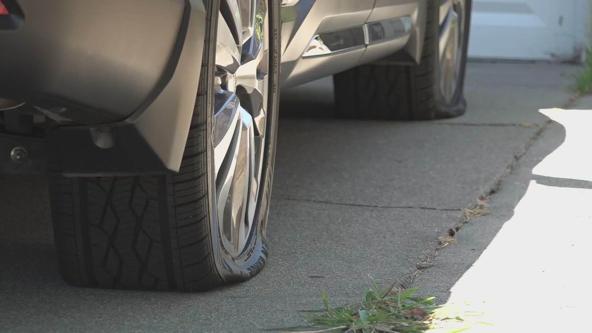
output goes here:
{"type": "MultiPolygon", "coordinates": [[[[335,120],[330,79],[285,91],[271,258],[247,283],[210,293],[66,286],[57,276],[43,180],[18,186],[20,180],[2,178],[0,202],[11,204],[0,209],[0,331],[256,332],[301,324],[297,310],[318,308],[321,290],[330,302],[344,303],[359,299],[369,276],[381,284],[401,281],[461,209],[501,177],[537,132],[532,124],[548,120],[539,109],[567,103],[576,69],[472,63],[466,116],[420,123],[335,120]]],[[[561,143],[558,130],[532,159],[561,143]]],[[[492,214],[483,218],[497,225],[475,220],[414,284],[448,299],[525,193],[521,181],[513,188],[508,180],[507,194],[494,198],[504,200],[503,209],[494,211],[492,201],[492,214]],[[485,233],[480,247],[461,247],[469,228],[485,233]]]]}

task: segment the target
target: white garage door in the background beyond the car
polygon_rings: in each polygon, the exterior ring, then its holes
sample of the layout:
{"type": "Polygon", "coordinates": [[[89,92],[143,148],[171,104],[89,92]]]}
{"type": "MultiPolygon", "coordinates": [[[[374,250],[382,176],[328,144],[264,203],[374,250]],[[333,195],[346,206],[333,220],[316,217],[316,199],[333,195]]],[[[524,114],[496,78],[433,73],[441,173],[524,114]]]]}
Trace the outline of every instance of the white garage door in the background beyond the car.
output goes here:
{"type": "Polygon", "coordinates": [[[469,57],[579,60],[585,1],[473,0],[469,57]]]}

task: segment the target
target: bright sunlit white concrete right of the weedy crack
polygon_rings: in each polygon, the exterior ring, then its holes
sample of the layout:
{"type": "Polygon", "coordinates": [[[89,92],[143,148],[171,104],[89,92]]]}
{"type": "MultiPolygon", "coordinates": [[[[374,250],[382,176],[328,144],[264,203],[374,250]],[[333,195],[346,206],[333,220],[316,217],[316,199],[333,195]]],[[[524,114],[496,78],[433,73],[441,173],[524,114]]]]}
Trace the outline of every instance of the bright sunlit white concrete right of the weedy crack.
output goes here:
{"type": "MultiPolygon", "coordinates": [[[[541,112],[562,124],[566,135],[533,168],[533,178],[591,181],[592,110],[541,112]]],[[[591,203],[590,189],[530,181],[513,217],[451,289],[449,306],[482,313],[471,320],[494,324],[471,325],[471,332],[591,329],[591,203]]]]}

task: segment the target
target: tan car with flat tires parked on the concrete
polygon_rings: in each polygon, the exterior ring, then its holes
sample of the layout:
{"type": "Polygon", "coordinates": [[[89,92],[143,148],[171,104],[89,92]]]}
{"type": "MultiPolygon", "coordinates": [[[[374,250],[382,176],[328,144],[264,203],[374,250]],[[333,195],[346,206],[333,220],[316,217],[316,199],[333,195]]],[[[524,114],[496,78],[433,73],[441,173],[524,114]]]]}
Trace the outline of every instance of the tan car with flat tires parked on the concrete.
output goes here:
{"type": "Polygon", "coordinates": [[[268,258],[280,88],[464,113],[471,0],[0,0],[0,172],[47,177],[72,286],[208,290],[268,258]]]}

